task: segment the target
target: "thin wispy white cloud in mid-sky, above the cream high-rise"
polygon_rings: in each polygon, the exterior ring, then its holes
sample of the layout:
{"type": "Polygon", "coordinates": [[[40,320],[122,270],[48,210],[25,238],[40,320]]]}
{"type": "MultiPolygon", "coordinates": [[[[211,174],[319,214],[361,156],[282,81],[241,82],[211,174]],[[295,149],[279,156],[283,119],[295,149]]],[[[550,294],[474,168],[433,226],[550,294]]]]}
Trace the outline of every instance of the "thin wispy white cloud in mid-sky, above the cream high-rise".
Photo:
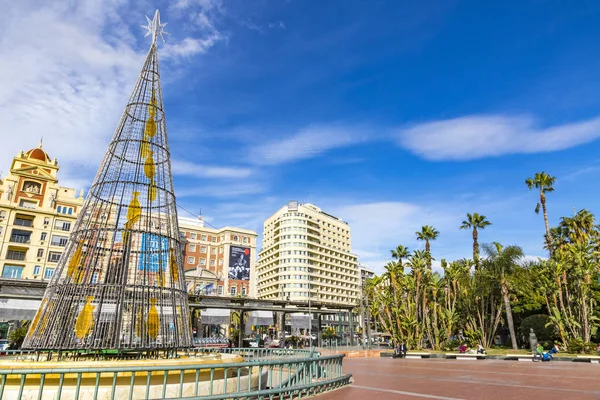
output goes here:
{"type": "Polygon", "coordinates": [[[371,138],[362,129],[341,125],[308,126],[288,138],[253,146],[249,161],[276,165],[316,157],[329,150],[365,142],[371,138]]]}

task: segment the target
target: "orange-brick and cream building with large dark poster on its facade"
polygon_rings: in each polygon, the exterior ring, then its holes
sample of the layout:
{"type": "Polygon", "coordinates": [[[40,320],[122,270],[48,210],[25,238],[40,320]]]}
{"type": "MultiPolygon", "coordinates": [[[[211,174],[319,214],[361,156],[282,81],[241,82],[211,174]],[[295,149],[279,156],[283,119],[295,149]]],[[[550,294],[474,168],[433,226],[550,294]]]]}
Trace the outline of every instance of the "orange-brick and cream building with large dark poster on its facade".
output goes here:
{"type": "Polygon", "coordinates": [[[207,227],[201,217],[178,221],[190,293],[256,297],[256,232],[207,227]]]}

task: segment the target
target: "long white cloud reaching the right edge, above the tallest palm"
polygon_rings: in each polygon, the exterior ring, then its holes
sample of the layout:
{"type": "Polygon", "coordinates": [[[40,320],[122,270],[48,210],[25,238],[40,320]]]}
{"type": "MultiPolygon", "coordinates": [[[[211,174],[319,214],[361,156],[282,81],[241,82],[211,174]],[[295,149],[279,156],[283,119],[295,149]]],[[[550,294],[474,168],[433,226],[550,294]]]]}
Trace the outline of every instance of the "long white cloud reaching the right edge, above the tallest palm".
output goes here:
{"type": "Polygon", "coordinates": [[[598,137],[600,118],[541,128],[530,116],[475,115],[401,129],[397,141],[438,161],[563,150],[598,137]]]}

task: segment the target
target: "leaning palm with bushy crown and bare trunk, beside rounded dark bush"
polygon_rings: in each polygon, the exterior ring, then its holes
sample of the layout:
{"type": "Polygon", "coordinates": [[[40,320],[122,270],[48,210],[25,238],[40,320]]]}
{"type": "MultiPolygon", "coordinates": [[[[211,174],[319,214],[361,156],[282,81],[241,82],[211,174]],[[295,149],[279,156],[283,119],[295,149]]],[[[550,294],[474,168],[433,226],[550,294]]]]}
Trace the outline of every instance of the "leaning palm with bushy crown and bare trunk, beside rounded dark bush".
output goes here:
{"type": "Polygon", "coordinates": [[[487,255],[486,262],[489,263],[494,275],[500,280],[500,289],[504,299],[504,311],[506,311],[506,323],[510,332],[510,340],[513,350],[517,350],[517,337],[515,335],[515,324],[512,317],[510,305],[510,280],[518,267],[518,261],[523,257],[523,250],[518,246],[503,247],[494,242],[493,246],[484,245],[483,249],[487,255]]]}

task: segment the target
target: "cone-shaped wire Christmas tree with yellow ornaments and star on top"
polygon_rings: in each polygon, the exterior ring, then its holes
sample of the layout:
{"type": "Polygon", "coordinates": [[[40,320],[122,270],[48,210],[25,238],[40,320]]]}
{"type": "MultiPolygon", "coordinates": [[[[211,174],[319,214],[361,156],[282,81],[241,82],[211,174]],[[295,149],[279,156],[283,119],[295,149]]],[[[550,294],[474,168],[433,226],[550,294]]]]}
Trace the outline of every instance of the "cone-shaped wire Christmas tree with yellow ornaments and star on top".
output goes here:
{"type": "MultiPolygon", "coordinates": [[[[152,45],[23,347],[192,345],[183,255],[152,45]]],[[[146,35],[147,36],[147,35],[146,35]]]]}

